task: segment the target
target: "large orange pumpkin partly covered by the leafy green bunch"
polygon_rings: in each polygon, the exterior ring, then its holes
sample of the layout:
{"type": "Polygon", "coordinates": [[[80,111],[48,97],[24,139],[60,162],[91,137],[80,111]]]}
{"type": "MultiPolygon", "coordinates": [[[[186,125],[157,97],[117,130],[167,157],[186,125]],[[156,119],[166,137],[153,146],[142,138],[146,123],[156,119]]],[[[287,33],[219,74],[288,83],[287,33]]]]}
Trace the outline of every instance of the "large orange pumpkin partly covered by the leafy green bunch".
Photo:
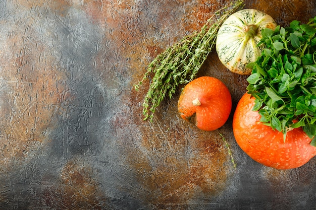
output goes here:
{"type": "Polygon", "coordinates": [[[233,131],[240,148],[253,160],[276,169],[292,169],[307,163],[316,155],[316,147],[302,128],[283,133],[264,125],[257,111],[252,111],[254,97],[246,93],[237,104],[233,131]]]}

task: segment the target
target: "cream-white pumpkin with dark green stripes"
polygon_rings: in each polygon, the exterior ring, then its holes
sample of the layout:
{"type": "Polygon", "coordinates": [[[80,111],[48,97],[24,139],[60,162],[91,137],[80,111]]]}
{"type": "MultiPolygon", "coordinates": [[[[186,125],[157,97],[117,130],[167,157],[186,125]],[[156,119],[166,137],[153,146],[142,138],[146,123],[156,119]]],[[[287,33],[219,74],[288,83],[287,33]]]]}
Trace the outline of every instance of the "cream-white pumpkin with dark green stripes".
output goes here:
{"type": "Polygon", "coordinates": [[[221,62],[233,73],[250,75],[246,65],[256,60],[262,46],[256,46],[263,28],[275,29],[277,24],[266,13],[240,10],[229,16],[220,27],[216,40],[216,51],[221,62]]]}

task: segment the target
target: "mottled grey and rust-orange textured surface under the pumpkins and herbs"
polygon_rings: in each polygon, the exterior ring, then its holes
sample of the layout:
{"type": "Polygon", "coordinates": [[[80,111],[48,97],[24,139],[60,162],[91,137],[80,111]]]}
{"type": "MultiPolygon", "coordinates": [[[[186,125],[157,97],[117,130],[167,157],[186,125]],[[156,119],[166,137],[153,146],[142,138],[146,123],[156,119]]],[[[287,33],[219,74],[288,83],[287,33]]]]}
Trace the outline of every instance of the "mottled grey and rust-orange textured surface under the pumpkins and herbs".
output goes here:
{"type": "MultiPolygon", "coordinates": [[[[146,65],[228,2],[0,0],[0,209],[314,209],[315,158],[261,166],[232,116],[212,132],[183,121],[179,92],[142,121],[146,65]]],[[[245,4],[281,25],[316,15],[310,0],[245,4]]],[[[246,77],[215,52],[203,75],[228,86],[233,113],[246,77]]]]}

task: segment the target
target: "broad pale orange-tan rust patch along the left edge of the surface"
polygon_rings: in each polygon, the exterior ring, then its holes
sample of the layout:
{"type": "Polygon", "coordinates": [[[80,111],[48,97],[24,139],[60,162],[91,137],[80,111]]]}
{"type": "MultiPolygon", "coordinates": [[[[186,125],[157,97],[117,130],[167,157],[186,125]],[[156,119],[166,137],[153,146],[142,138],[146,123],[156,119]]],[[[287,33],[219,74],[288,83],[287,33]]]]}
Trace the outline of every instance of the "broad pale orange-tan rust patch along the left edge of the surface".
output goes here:
{"type": "Polygon", "coordinates": [[[27,35],[35,34],[32,27],[9,33],[0,50],[5,90],[0,93],[2,166],[10,166],[13,158],[26,157],[30,148],[40,147],[56,125],[54,116],[61,111],[66,93],[60,82],[65,73],[56,67],[58,61],[47,46],[27,35]]]}

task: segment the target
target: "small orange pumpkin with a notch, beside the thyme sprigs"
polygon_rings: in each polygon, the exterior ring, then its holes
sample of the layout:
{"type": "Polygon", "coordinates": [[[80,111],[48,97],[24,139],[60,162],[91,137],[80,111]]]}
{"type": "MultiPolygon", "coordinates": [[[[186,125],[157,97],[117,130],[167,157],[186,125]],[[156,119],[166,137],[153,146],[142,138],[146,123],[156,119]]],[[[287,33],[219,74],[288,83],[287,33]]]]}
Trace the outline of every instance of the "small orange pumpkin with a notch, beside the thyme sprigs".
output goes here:
{"type": "Polygon", "coordinates": [[[216,130],[227,121],[232,97],[226,85],[213,77],[189,82],[178,101],[180,116],[205,131],[216,130]]]}

